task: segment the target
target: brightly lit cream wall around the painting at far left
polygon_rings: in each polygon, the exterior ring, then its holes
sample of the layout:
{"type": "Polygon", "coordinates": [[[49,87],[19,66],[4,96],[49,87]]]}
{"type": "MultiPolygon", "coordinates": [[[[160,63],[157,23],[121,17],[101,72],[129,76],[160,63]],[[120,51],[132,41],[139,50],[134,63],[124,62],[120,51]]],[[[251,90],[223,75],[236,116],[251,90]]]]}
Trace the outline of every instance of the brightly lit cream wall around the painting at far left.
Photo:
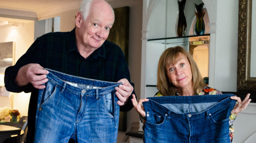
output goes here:
{"type": "MultiPolygon", "coordinates": [[[[34,21],[23,23],[19,26],[12,26],[11,24],[0,26],[0,30],[0,42],[15,42],[15,62],[17,62],[34,42],[34,21]]],[[[28,116],[29,98],[30,93],[15,93],[13,98],[14,109],[18,109],[21,116],[28,116]]],[[[11,108],[8,96],[1,96],[0,101],[0,107],[8,106],[11,108]]]]}

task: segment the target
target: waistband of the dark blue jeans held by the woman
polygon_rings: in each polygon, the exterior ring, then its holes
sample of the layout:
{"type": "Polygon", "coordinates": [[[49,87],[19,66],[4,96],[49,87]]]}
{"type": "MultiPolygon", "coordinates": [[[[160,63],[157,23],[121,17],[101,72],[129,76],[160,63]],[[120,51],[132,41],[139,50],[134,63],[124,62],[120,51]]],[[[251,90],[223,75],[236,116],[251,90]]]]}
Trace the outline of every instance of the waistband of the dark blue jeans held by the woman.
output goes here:
{"type": "Polygon", "coordinates": [[[205,112],[209,113],[219,108],[224,107],[225,105],[236,103],[235,100],[231,99],[231,96],[236,96],[233,94],[221,94],[221,95],[194,95],[194,96],[162,96],[162,97],[150,97],[148,102],[143,102],[144,107],[154,108],[158,111],[161,111],[163,116],[165,114],[177,115],[179,117],[186,117],[188,114],[193,114],[193,117],[196,116],[205,116],[205,112]],[[172,110],[164,107],[161,104],[196,104],[196,103],[207,103],[207,102],[216,102],[213,106],[205,108],[204,111],[200,113],[175,113],[172,110]]]}

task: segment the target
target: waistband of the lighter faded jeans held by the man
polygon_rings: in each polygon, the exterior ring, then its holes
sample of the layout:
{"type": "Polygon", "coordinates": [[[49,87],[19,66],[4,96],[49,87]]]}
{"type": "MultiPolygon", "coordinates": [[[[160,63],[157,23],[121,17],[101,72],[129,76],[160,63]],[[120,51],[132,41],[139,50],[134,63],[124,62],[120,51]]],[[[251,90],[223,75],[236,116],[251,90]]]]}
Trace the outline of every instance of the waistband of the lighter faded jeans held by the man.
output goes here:
{"type": "Polygon", "coordinates": [[[105,95],[113,91],[115,87],[122,84],[117,82],[77,77],[47,68],[45,70],[49,71],[47,78],[49,81],[51,81],[51,83],[62,87],[62,90],[68,90],[76,95],[81,95],[81,93],[83,95],[96,95],[96,93],[99,95],[105,95]]]}

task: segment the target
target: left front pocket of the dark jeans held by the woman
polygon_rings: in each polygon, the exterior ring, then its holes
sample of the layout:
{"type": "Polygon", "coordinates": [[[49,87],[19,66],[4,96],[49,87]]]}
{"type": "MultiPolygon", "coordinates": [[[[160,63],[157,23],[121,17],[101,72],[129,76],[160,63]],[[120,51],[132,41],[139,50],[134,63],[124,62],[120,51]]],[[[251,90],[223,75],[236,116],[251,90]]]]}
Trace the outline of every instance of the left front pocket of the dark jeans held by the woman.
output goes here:
{"type": "Polygon", "coordinates": [[[162,114],[147,112],[145,122],[151,125],[162,125],[166,120],[165,117],[162,114]]]}

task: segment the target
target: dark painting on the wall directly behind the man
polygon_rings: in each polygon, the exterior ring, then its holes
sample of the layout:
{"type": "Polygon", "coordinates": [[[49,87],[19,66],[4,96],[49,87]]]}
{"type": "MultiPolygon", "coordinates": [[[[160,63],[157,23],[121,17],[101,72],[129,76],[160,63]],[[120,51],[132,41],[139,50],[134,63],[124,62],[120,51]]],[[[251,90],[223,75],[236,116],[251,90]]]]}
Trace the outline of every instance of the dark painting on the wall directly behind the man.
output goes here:
{"type": "MultiPolygon", "coordinates": [[[[119,45],[128,63],[130,8],[128,6],[116,8],[114,13],[115,21],[107,40],[119,45]]],[[[120,111],[118,130],[126,131],[126,112],[120,111]]]]}

